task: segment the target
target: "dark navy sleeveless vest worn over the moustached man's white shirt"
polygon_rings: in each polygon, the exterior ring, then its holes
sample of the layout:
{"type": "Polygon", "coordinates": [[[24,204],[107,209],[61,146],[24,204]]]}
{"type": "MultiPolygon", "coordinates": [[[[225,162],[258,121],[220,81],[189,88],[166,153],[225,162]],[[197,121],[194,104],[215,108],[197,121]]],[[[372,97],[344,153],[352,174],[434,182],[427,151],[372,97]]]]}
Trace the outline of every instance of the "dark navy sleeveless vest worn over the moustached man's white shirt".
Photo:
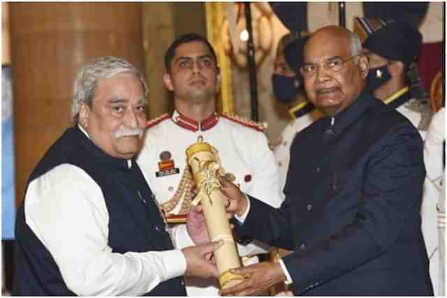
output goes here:
{"type": "MultiPolygon", "coordinates": [[[[113,253],[166,251],[174,248],[163,218],[155,202],[150,199],[152,191],[135,160],[132,159],[133,165],[129,168],[127,160],[105,154],[76,126],[68,128],[50,147],[34,168],[27,185],[63,163],[80,167],[101,188],[110,218],[108,245],[113,253]],[[149,200],[142,202],[138,192],[142,198],[149,200]]],[[[75,295],[68,290],[50,252],[25,223],[26,203],[24,200],[17,211],[17,271],[13,295],[75,295]]],[[[183,278],[160,283],[145,296],[186,296],[183,278]]]]}

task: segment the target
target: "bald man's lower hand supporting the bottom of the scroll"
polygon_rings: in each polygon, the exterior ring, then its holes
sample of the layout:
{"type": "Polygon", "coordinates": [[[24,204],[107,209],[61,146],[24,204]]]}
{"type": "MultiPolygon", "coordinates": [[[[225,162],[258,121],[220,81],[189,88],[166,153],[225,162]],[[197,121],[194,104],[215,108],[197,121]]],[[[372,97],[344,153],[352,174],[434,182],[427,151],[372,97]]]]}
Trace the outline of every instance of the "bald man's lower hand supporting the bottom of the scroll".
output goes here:
{"type": "Polygon", "coordinates": [[[253,296],[265,293],[272,285],[284,281],[284,273],[279,263],[261,262],[247,267],[231,269],[234,274],[242,274],[245,279],[234,287],[221,290],[221,296],[253,296]]]}

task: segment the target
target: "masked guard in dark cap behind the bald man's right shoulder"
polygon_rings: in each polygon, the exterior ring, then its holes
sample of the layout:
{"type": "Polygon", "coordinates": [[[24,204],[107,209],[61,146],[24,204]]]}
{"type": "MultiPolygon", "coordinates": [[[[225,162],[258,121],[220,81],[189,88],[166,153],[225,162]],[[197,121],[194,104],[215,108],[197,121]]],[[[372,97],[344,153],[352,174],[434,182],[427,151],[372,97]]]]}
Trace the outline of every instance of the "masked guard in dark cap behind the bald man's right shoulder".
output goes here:
{"type": "Polygon", "coordinates": [[[424,137],[432,113],[416,66],[422,35],[409,24],[365,17],[355,18],[354,31],[369,60],[369,91],[408,118],[424,137]]]}

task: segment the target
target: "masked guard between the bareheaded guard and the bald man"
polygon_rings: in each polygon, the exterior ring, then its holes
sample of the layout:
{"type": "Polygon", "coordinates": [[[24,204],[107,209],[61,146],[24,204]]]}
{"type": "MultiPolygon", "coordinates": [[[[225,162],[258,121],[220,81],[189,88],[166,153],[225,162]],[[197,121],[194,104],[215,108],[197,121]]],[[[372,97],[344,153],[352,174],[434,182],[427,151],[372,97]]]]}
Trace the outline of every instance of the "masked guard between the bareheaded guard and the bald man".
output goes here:
{"type": "Polygon", "coordinates": [[[312,122],[322,117],[322,113],[307,100],[304,84],[300,74],[302,51],[309,38],[300,38],[298,32],[288,33],[279,40],[277,57],[274,61],[272,87],[275,98],[289,107],[291,121],[286,125],[277,142],[273,153],[279,170],[281,198],[286,182],[290,149],[293,138],[312,122]]]}

